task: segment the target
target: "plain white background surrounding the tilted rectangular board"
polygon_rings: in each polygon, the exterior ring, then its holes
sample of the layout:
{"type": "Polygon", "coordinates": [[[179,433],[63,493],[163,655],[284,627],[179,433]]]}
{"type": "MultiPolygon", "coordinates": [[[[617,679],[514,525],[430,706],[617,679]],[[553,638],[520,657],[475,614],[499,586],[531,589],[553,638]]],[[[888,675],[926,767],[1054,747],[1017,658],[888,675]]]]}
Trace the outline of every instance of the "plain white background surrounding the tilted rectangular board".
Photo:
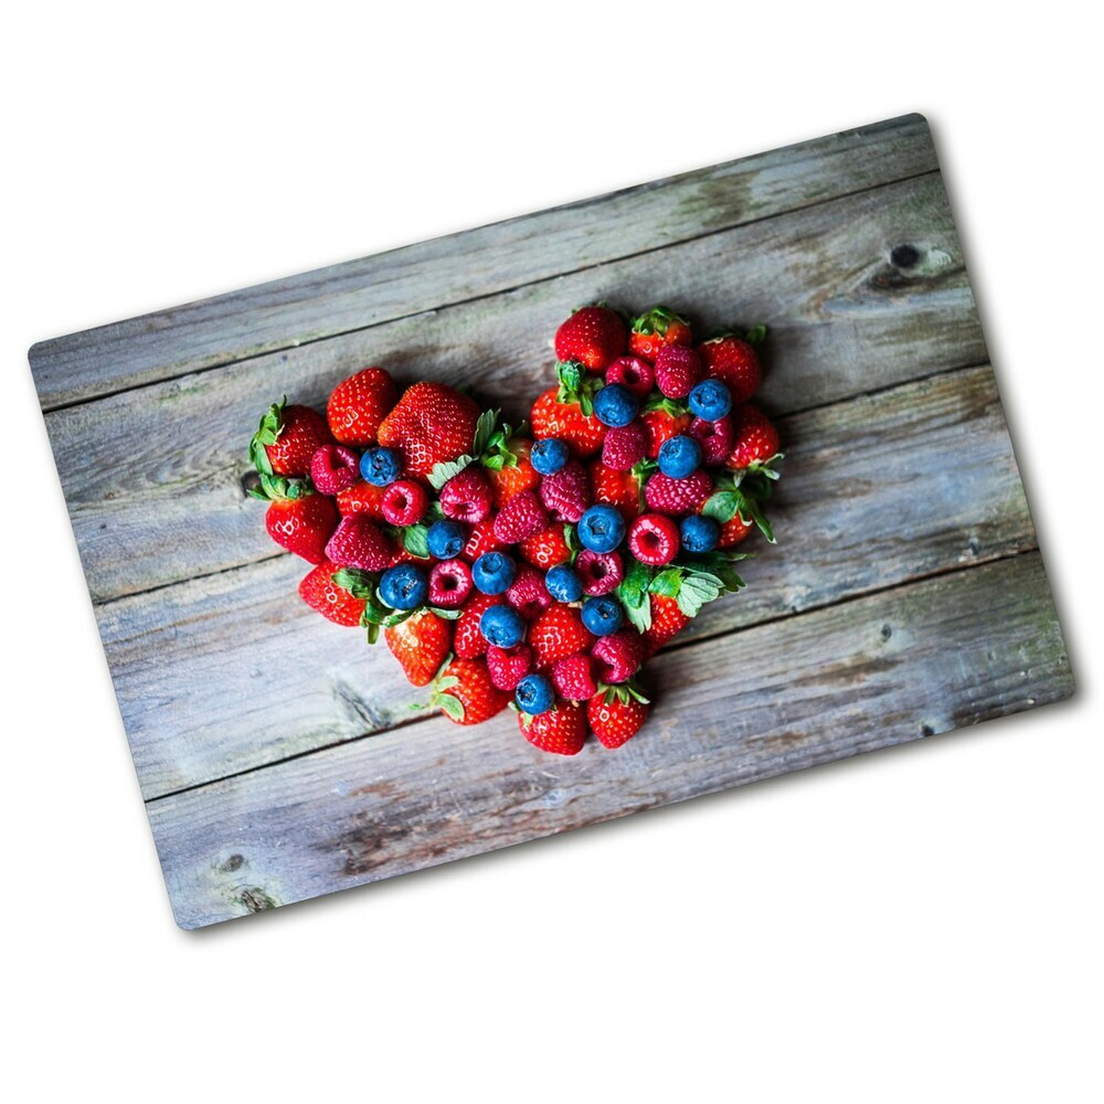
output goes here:
{"type": "Polygon", "coordinates": [[[232,7],[19,4],[0,28],[17,1098],[1098,1100],[1104,243],[1082,6],[232,7]],[[31,342],[912,110],[1078,698],[178,931],[31,342]]]}

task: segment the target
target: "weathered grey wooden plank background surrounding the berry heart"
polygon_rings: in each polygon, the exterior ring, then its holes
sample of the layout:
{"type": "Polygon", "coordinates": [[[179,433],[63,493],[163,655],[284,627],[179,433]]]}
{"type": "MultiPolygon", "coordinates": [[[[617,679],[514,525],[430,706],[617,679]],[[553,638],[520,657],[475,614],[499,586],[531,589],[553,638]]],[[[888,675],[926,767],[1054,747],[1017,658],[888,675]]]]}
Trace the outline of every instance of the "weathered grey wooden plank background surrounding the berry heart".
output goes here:
{"type": "Polygon", "coordinates": [[[60,338],[31,365],[185,927],[1072,692],[919,116],[60,338]],[[244,445],[272,399],[321,404],[365,363],[523,414],[555,326],[596,298],[768,322],[788,455],[778,548],[749,542],[749,590],[656,665],[649,728],[564,761],[510,716],[412,711],[385,649],[307,611],[244,445]]]}

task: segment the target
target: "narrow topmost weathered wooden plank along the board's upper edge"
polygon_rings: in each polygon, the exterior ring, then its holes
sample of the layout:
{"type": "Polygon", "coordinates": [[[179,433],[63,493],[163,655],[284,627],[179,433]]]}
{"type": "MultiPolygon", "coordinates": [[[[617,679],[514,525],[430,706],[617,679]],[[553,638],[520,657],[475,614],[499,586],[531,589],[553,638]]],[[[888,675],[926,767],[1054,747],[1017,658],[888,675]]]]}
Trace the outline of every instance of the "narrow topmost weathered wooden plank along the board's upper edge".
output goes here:
{"type": "MultiPolygon", "coordinates": [[[[917,115],[36,344],[46,410],[548,279],[930,172],[917,115]]],[[[561,305],[562,312],[562,305],[561,305]]]]}

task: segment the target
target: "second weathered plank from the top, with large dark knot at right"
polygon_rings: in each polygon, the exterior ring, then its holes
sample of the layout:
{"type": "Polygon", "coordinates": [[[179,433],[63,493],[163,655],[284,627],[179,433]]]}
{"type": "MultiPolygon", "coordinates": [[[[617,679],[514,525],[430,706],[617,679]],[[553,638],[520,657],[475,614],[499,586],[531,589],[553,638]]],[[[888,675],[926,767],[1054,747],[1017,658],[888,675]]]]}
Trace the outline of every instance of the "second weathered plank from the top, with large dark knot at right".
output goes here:
{"type": "Polygon", "coordinates": [[[661,261],[612,263],[49,414],[94,599],[272,556],[242,488],[245,445],[272,397],[320,405],[376,362],[406,379],[478,381],[522,415],[552,380],[558,321],[601,298],[688,304],[704,330],[768,319],[785,373],[768,372],[762,402],[778,414],[986,359],[938,174],[889,184],[672,245],[661,261]],[[919,253],[907,269],[889,259],[900,243],[919,253]]]}

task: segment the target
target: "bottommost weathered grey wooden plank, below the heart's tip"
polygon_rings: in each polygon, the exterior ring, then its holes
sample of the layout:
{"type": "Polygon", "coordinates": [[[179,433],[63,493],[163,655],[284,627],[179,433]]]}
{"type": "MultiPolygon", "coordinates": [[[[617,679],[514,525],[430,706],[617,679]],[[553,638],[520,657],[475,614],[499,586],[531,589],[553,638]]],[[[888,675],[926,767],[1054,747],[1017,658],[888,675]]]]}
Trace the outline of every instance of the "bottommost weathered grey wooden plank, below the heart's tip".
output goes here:
{"type": "Polygon", "coordinates": [[[435,719],[148,806],[198,927],[1066,697],[1027,553],[677,649],[651,726],[544,755],[512,716],[435,719]],[[732,678],[718,678],[729,670],[732,678]]]}

